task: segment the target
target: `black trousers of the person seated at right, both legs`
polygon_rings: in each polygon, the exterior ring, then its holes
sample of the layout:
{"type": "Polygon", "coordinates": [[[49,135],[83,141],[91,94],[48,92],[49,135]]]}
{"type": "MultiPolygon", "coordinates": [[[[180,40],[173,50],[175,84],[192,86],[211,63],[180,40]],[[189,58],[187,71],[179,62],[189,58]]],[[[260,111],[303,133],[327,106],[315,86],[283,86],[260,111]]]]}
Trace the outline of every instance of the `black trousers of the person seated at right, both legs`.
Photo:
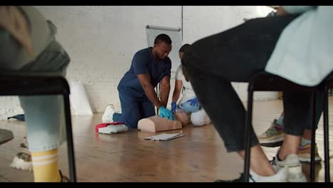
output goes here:
{"type": "MultiPolygon", "coordinates": [[[[265,66],[283,29],[298,15],[252,19],[196,41],[182,59],[199,102],[228,152],[244,150],[245,108],[231,82],[248,82],[265,66]]],[[[302,135],[307,127],[311,93],[285,92],[285,130],[302,135]]],[[[251,145],[258,145],[253,130],[251,145]]]]}

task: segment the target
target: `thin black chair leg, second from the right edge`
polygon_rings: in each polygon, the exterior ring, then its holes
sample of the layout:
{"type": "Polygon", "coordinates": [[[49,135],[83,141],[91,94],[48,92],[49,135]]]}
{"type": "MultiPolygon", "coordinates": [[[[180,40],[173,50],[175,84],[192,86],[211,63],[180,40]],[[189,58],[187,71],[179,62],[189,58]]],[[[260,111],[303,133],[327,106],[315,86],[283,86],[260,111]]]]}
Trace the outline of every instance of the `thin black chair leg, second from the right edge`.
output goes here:
{"type": "Polygon", "coordinates": [[[312,92],[312,136],[311,136],[311,160],[310,160],[310,180],[314,181],[314,155],[315,155],[315,136],[317,122],[317,92],[312,92]]]}

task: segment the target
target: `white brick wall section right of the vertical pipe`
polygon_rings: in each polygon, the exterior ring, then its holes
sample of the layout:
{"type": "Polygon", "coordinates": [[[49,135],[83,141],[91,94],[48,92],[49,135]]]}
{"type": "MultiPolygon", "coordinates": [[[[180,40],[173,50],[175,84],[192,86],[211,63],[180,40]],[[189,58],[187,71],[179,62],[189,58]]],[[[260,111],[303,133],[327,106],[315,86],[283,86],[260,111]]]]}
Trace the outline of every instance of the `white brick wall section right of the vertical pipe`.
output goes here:
{"type": "MultiPolygon", "coordinates": [[[[266,6],[184,6],[184,43],[220,33],[243,23],[243,19],[264,17],[270,11],[266,6]]],[[[246,32],[246,31],[244,31],[246,32]]],[[[240,99],[247,100],[248,84],[233,83],[240,99]]],[[[277,98],[275,92],[255,92],[255,100],[277,98]]]]}

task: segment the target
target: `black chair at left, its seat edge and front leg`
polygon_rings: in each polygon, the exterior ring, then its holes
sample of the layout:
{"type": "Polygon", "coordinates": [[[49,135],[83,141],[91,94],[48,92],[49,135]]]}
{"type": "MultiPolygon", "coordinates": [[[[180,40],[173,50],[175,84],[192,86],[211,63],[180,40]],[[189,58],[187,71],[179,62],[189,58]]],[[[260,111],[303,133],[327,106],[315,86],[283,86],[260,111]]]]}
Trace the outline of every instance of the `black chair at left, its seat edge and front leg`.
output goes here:
{"type": "MultiPolygon", "coordinates": [[[[63,95],[70,182],[76,182],[70,88],[67,80],[59,73],[0,71],[0,85],[0,95],[63,95]]],[[[1,133],[0,136],[2,138],[1,133]]],[[[9,138],[10,134],[6,132],[6,138],[1,140],[7,142],[9,138]]]]}

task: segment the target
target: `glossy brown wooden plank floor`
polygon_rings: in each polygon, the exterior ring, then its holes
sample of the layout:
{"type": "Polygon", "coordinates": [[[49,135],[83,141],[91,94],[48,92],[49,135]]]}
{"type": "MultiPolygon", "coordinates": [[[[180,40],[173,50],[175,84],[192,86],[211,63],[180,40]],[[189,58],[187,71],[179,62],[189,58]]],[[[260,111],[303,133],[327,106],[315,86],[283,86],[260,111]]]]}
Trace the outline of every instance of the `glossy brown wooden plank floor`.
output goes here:
{"type": "MultiPolygon", "coordinates": [[[[329,100],[330,117],[333,98],[329,100]]],[[[264,132],[270,122],[282,112],[281,100],[257,101],[254,104],[255,132],[264,132]]],[[[215,179],[235,179],[243,171],[243,160],[236,153],[227,153],[213,125],[182,129],[184,137],[166,142],[144,140],[154,132],[129,130],[118,135],[95,134],[95,124],[101,114],[73,116],[75,159],[79,182],[213,182],[215,179]]],[[[332,130],[333,119],[330,118],[332,130]]],[[[14,140],[0,146],[0,182],[33,182],[33,173],[9,167],[25,136],[24,122],[0,121],[0,128],[12,130],[14,140]]],[[[168,133],[180,130],[167,131],[168,133]]],[[[161,133],[161,132],[159,132],[161,133]]],[[[333,145],[332,131],[329,134],[333,145]]],[[[317,130],[319,155],[323,155],[322,122],[317,130]]],[[[263,147],[271,159],[276,148],[263,147]]],[[[332,159],[331,149],[331,159],[332,159]]],[[[59,150],[59,166],[68,174],[65,145],[59,150]]],[[[310,165],[303,164],[309,177],[310,165]]],[[[324,163],[316,165],[316,182],[324,181],[324,163]]],[[[332,161],[331,161],[332,174],[332,161]]],[[[333,176],[333,175],[332,175],[333,176]]],[[[331,181],[333,180],[331,176],[331,181]]]]}

